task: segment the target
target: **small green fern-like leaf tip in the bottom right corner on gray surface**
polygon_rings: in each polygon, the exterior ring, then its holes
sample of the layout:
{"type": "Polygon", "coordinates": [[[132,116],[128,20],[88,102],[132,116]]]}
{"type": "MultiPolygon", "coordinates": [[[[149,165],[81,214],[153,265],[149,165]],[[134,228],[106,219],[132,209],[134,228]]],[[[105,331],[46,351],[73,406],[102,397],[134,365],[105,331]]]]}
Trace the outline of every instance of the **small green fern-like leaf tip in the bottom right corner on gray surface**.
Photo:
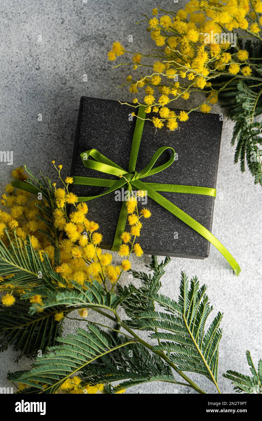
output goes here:
{"type": "Polygon", "coordinates": [[[250,368],[252,377],[238,373],[236,371],[228,370],[223,374],[223,377],[231,380],[234,390],[238,393],[258,393],[262,394],[262,360],[258,362],[258,368],[255,368],[254,362],[252,361],[250,351],[246,351],[246,359],[250,368]]]}

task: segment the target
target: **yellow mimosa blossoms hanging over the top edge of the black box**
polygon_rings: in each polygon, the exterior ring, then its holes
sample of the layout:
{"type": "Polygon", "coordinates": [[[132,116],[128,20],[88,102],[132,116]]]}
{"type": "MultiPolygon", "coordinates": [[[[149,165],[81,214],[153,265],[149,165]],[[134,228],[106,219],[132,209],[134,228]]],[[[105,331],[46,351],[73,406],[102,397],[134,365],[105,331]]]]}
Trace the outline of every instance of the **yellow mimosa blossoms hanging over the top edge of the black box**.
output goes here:
{"type": "Polygon", "coordinates": [[[232,81],[257,79],[253,76],[259,64],[251,61],[249,51],[241,48],[239,42],[232,51],[230,34],[237,35],[237,40],[254,37],[261,41],[261,13],[262,1],[250,0],[190,0],[176,13],[154,8],[151,17],[143,15],[146,19],[142,21],[155,43],[152,52],[131,52],[116,41],[108,59],[132,54],[130,62],[114,66],[130,66],[131,72],[122,86],[128,86],[133,95],[132,107],[144,105],[146,118],[156,128],[173,131],[179,122],[188,120],[193,110],[210,112],[220,92],[232,81]],[[225,36],[214,36],[220,34],[225,36]],[[144,60],[147,57],[152,58],[151,64],[144,60]],[[141,75],[139,70],[145,72],[141,75]],[[220,83],[216,79],[221,76],[228,79],[220,83]],[[187,101],[191,94],[203,90],[206,99],[196,108],[179,113],[169,109],[178,98],[187,101]]]}

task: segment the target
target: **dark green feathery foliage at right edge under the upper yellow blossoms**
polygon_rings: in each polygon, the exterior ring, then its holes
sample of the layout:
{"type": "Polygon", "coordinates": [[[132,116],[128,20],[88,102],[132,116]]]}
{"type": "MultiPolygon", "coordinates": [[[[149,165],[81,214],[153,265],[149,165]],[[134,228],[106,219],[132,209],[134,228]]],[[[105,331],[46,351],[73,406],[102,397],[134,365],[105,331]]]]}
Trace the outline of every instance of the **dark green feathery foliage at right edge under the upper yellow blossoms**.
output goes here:
{"type": "MultiPolygon", "coordinates": [[[[241,171],[245,171],[247,163],[254,177],[254,183],[262,185],[262,123],[254,122],[254,118],[262,113],[262,43],[260,41],[238,39],[238,47],[249,52],[249,64],[252,67],[252,78],[240,80],[232,76],[220,76],[214,80],[212,87],[219,89],[226,83],[226,89],[219,93],[220,104],[226,108],[227,115],[235,120],[232,145],[236,142],[234,162],[240,162],[241,171]],[[260,80],[260,82],[259,82],[260,80]]],[[[235,48],[230,53],[236,53],[235,48]]]]}

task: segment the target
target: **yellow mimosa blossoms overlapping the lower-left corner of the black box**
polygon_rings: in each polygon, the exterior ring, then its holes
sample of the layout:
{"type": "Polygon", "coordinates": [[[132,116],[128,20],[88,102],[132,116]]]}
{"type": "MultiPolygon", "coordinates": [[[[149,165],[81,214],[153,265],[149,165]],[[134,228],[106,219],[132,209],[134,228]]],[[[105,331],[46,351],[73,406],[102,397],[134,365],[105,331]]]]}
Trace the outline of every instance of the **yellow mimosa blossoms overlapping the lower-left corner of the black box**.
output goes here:
{"type": "MultiPolygon", "coordinates": [[[[60,265],[55,267],[57,273],[66,280],[66,286],[72,288],[72,281],[77,282],[85,288],[85,282],[93,282],[97,280],[104,285],[106,292],[114,290],[116,283],[119,281],[122,273],[131,267],[130,255],[134,253],[140,257],[143,250],[136,241],[140,236],[142,228],[142,218],[149,218],[151,212],[143,208],[138,210],[138,197],[144,197],[146,192],[138,191],[135,196],[131,194],[130,200],[126,202],[128,213],[129,231],[124,231],[121,235],[122,245],[119,247],[119,256],[123,258],[121,265],[112,264],[112,254],[103,252],[100,244],[103,235],[98,232],[99,225],[95,221],[87,218],[88,206],[85,202],[78,203],[78,198],[74,193],[69,192],[69,184],[73,183],[72,177],[61,178],[62,165],[56,166],[52,161],[63,187],[57,187],[53,183],[55,194],[55,204],[52,210],[53,226],[57,230],[58,245],[60,248],[60,265]],[[73,205],[74,210],[67,214],[66,205],[73,205]],[[109,282],[108,282],[109,281],[109,282]],[[109,289],[108,289],[109,285],[109,289]]],[[[17,168],[13,171],[13,177],[20,180],[26,179],[23,168],[17,168]]],[[[21,240],[29,241],[32,247],[37,250],[41,260],[42,254],[46,253],[54,265],[54,246],[48,239],[48,226],[41,218],[41,210],[36,207],[35,197],[30,193],[20,189],[15,189],[12,184],[8,184],[2,195],[1,203],[4,208],[9,211],[0,210],[0,237],[3,242],[7,241],[6,232],[12,236],[14,233],[21,240]]],[[[44,201],[45,206],[48,204],[44,201]]],[[[6,281],[11,278],[12,274],[1,279],[6,281]]],[[[11,293],[8,292],[2,297],[4,306],[11,306],[15,302],[11,293]]],[[[58,285],[64,288],[65,285],[58,285]]],[[[6,284],[5,284],[6,288],[6,284]]],[[[41,296],[31,298],[32,303],[38,303],[41,307],[41,296]]],[[[57,314],[56,319],[59,321],[63,318],[63,314],[57,314]]]]}

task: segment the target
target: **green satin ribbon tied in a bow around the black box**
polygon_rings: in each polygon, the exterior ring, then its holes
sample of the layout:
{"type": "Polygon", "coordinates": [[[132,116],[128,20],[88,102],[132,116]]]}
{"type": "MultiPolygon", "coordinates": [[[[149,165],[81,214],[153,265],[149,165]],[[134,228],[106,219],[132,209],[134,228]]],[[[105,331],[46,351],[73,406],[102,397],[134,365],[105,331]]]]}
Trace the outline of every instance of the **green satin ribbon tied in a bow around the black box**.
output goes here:
{"type": "MultiPolygon", "coordinates": [[[[88,200],[96,199],[97,197],[102,197],[104,195],[108,195],[115,190],[119,190],[124,185],[127,185],[127,189],[131,190],[132,187],[135,187],[138,190],[146,190],[147,194],[151,199],[155,202],[159,203],[163,208],[169,210],[173,215],[177,216],[177,218],[181,219],[181,221],[185,222],[188,226],[191,226],[198,234],[202,235],[202,237],[206,238],[209,242],[211,242],[217,250],[222,253],[225,259],[228,261],[230,266],[234,269],[234,272],[238,275],[241,272],[241,269],[233,258],[233,256],[229,253],[229,251],[222,245],[222,243],[217,240],[216,237],[203,225],[185,213],[182,209],[178,208],[172,202],[167,200],[164,196],[160,195],[158,192],[173,192],[173,193],[188,193],[193,195],[207,195],[216,197],[216,189],[209,188],[209,187],[198,187],[198,186],[186,186],[180,184],[163,184],[163,183],[148,183],[141,181],[141,179],[151,176],[153,174],[159,173],[160,171],[165,170],[166,168],[171,165],[175,160],[175,150],[171,147],[163,146],[157,149],[154,153],[153,157],[151,158],[146,168],[144,168],[139,173],[135,171],[135,165],[138,157],[138,150],[140,147],[140,140],[143,133],[143,126],[144,126],[144,118],[146,116],[144,107],[139,107],[138,109],[138,118],[135,125],[135,131],[132,140],[131,152],[130,152],[130,160],[128,171],[124,170],[122,167],[111,161],[109,158],[102,155],[96,149],[89,149],[88,151],[82,152],[80,154],[83,164],[86,168],[90,168],[92,170],[100,171],[102,173],[110,174],[112,176],[118,177],[117,180],[109,180],[109,179],[98,179],[95,177],[79,177],[73,176],[74,184],[80,184],[84,186],[96,186],[96,187],[107,187],[107,190],[100,195],[95,196],[88,196],[88,197],[78,197],[79,202],[87,202],[88,200]],[[159,165],[156,168],[153,168],[154,164],[160,157],[160,155],[169,149],[171,151],[171,157],[169,160],[159,165]],[[90,159],[93,158],[93,159],[90,159]],[[119,178],[120,176],[120,178],[119,178]]],[[[122,207],[120,210],[118,223],[116,226],[116,233],[114,237],[114,242],[111,250],[118,251],[119,246],[122,243],[120,235],[124,231],[125,225],[127,220],[127,207],[125,203],[122,203],[122,207]]]]}

